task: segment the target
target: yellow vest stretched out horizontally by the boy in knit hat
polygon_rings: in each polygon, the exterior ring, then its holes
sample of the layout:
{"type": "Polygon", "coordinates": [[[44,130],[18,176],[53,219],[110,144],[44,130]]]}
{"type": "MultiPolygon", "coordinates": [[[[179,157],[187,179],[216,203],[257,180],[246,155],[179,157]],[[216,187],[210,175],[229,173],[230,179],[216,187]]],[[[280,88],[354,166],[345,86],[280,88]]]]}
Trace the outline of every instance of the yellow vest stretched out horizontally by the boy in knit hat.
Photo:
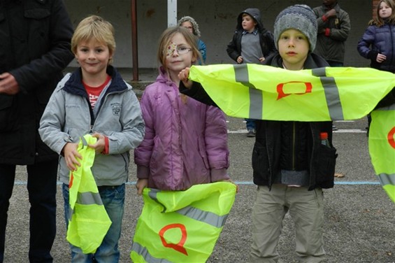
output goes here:
{"type": "Polygon", "coordinates": [[[289,71],[259,64],[192,66],[189,78],[224,113],[258,120],[359,119],[395,86],[393,73],[326,67],[289,71]]]}

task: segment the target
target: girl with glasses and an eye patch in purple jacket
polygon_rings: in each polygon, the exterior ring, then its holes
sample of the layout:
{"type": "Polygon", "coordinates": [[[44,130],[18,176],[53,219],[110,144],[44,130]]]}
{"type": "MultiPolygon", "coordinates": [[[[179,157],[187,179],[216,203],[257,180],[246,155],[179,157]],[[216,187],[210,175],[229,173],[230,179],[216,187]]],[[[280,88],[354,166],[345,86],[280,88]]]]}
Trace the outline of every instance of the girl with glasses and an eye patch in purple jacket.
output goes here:
{"type": "Polygon", "coordinates": [[[178,91],[178,73],[201,58],[194,35],[183,27],[166,29],[157,58],[159,76],[141,97],[145,138],[134,151],[138,194],[144,187],[187,190],[230,180],[224,113],[178,91]]]}

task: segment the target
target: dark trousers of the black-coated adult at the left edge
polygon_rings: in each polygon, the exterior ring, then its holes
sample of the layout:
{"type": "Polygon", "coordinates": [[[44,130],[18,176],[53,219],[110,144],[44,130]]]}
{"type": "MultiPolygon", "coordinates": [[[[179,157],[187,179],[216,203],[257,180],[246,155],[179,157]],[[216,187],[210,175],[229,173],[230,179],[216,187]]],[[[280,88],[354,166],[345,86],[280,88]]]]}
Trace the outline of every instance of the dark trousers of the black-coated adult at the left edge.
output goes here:
{"type": "MultiPolygon", "coordinates": [[[[56,234],[57,164],[55,159],[26,166],[30,202],[30,262],[53,262],[50,250],[56,234]]],[[[7,213],[15,169],[14,164],[0,164],[0,262],[4,257],[7,213]]]]}

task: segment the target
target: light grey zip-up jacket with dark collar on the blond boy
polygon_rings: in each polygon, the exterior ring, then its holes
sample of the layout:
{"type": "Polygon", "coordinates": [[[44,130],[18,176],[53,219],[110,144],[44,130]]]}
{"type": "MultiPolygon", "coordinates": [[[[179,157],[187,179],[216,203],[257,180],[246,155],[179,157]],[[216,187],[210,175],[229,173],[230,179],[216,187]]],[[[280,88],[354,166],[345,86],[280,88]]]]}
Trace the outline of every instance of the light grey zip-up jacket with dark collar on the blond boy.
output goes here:
{"type": "Polygon", "coordinates": [[[112,67],[112,77],[92,110],[81,70],[68,73],[59,82],[38,129],[41,139],[60,155],[59,179],[69,183],[69,169],[61,155],[66,143],[78,143],[80,136],[99,132],[108,137],[108,155],[96,154],[92,173],[96,184],[121,185],[127,182],[129,150],[144,138],[145,125],[136,94],[112,67]]]}

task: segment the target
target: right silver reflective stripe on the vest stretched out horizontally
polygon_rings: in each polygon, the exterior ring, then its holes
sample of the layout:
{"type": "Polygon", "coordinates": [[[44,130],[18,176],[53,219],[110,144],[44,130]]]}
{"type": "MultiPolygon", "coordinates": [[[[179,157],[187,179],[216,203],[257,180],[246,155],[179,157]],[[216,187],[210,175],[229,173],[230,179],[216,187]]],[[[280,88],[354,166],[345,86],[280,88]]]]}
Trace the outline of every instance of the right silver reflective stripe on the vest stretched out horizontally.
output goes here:
{"type": "Polygon", "coordinates": [[[324,87],[326,104],[328,105],[331,120],[344,120],[343,108],[340,103],[338,86],[335,78],[327,77],[325,68],[312,69],[313,76],[319,77],[324,87]]]}

